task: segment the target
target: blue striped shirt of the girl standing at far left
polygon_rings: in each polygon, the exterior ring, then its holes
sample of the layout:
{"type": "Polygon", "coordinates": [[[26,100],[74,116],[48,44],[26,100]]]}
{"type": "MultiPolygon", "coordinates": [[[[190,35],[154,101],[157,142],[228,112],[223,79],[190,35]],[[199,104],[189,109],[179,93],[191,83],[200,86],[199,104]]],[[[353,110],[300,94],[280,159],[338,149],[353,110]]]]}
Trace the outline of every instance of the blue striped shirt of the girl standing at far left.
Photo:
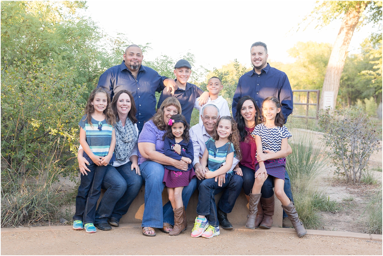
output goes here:
{"type": "Polygon", "coordinates": [[[107,156],[109,153],[110,143],[112,141],[113,126],[108,124],[106,120],[97,121],[92,118],[92,126],[86,120],[84,115],[79,122],[79,126],[87,135],[87,143],[96,156],[107,156]],[[98,129],[100,125],[100,129],[98,129]]]}

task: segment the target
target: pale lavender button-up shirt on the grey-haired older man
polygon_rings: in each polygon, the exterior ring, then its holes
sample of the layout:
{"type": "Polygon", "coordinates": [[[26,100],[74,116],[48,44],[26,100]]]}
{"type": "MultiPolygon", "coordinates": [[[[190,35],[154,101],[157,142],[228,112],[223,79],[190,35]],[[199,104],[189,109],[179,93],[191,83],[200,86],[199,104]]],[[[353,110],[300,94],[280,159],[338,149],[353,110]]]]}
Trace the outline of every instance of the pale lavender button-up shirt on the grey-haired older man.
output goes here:
{"type": "MultiPolygon", "coordinates": [[[[221,110],[220,110],[221,111],[221,110]]],[[[197,123],[196,125],[190,128],[190,139],[193,142],[193,150],[194,150],[194,161],[191,163],[193,167],[197,162],[200,162],[200,158],[202,158],[203,153],[206,149],[205,142],[210,139],[209,133],[206,131],[205,126],[203,124],[197,123]]],[[[239,163],[237,158],[233,159],[233,165],[228,172],[231,172],[234,167],[239,163]]]]}

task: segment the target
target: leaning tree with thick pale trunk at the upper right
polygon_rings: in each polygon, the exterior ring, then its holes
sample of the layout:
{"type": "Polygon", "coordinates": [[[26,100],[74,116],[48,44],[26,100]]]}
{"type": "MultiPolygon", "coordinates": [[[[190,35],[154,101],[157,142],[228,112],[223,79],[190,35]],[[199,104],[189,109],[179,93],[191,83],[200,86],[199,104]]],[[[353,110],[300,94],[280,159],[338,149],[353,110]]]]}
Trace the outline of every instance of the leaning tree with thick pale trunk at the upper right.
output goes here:
{"type": "MultiPolygon", "coordinates": [[[[323,1],[306,16],[304,20],[316,20],[317,27],[328,25],[331,21],[341,18],[339,33],[331,51],[326,75],[323,82],[322,93],[333,91],[338,95],[340,77],[347,57],[348,48],[355,28],[367,23],[381,25],[381,1],[323,1]]],[[[323,97],[321,97],[321,106],[323,97]]],[[[334,106],[336,97],[334,97],[334,106]]]]}

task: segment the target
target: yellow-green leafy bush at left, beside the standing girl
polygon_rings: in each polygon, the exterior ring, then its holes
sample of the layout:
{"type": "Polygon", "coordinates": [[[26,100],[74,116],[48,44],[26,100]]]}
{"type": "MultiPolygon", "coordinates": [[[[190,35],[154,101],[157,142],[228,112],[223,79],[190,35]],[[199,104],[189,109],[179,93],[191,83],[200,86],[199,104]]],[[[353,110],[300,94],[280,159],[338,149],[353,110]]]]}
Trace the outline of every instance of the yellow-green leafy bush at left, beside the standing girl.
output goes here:
{"type": "Polygon", "coordinates": [[[72,73],[38,60],[19,61],[4,72],[1,155],[9,168],[24,173],[47,156],[60,164],[74,156],[86,87],[73,83],[72,73]]]}

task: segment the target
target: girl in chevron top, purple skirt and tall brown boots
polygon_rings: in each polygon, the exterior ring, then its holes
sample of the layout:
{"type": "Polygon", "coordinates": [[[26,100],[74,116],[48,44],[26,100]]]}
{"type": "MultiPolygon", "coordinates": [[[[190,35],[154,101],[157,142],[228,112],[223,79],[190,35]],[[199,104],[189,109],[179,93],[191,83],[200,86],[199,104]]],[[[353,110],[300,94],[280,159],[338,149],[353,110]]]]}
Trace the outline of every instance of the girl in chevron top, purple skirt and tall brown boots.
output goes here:
{"type": "Polygon", "coordinates": [[[255,228],[255,219],[257,216],[259,203],[261,197],[261,187],[264,184],[268,175],[274,177],[274,192],[277,198],[282,203],[282,208],[288,215],[288,218],[293,223],[296,233],[299,237],[305,235],[307,231],[304,229],[303,223],[298,217],[294,203],[286,196],[283,187],[285,184],[285,164],[287,151],[287,139],[291,137],[290,132],[287,130],[285,118],[281,111],[281,103],[276,97],[265,98],[262,104],[262,112],[264,116],[264,123],[255,126],[251,135],[255,138],[257,151],[262,149],[280,153],[282,158],[257,161],[255,159],[255,181],[250,193],[249,200],[249,215],[247,215],[247,228],[255,228]]]}

